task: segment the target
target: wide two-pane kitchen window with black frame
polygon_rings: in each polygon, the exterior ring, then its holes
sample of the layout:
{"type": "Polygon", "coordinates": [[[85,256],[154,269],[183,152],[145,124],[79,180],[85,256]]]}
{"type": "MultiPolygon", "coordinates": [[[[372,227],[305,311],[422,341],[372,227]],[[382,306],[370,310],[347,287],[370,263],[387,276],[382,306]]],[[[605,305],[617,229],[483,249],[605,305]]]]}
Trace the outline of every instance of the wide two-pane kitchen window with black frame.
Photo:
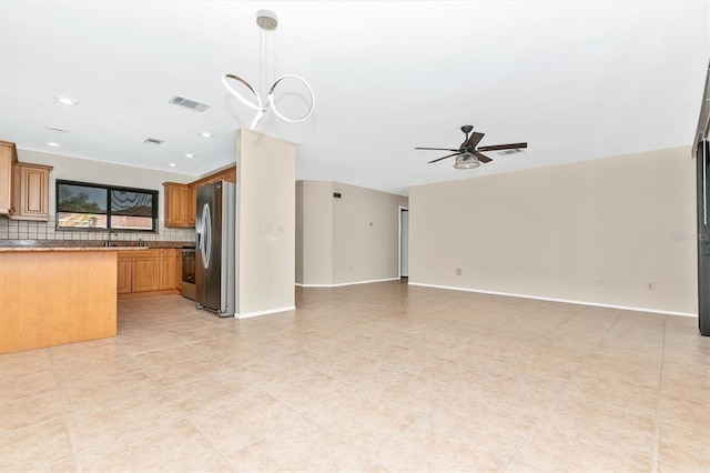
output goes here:
{"type": "Polygon", "coordinates": [[[158,191],[57,180],[58,230],[155,232],[158,191]]]}

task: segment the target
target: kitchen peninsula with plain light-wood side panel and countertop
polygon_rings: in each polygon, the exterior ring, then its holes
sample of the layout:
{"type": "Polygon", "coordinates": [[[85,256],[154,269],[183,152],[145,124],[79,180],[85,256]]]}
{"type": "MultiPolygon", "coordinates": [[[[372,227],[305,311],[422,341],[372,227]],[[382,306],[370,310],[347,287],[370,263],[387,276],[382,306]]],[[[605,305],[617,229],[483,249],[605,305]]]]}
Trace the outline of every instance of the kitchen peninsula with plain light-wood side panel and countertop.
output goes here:
{"type": "Polygon", "coordinates": [[[0,353],[115,336],[122,250],[0,248],[0,353]]]}

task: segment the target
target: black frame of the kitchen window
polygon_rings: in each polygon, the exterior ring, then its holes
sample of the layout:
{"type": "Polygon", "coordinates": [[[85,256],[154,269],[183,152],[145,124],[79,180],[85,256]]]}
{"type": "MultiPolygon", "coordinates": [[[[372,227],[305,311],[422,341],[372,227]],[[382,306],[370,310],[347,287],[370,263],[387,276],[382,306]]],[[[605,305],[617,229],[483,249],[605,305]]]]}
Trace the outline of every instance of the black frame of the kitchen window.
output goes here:
{"type": "MultiPolygon", "coordinates": [[[[159,191],[154,189],[141,189],[141,188],[129,188],[125,185],[113,185],[113,184],[100,184],[97,182],[85,182],[85,181],[71,181],[65,179],[57,179],[54,182],[54,230],[62,232],[122,232],[122,233],[158,233],[158,218],[159,218],[159,191]],[[95,227],[60,227],[59,224],[59,214],[61,211],[59,210],[59,189],[61,185],[79,185],[92,189],[100,189],[105,191],[106,193],[106,228],[95,228],[95,227]],[[135,192],[135,193],[144,193],[151,195],[151,229],[113,229],[111,228],[111,191],[121,191],[121,192],[135,192]]],[[[89,212],[75,212],[75,213],[89,213],[89,212]]]]}

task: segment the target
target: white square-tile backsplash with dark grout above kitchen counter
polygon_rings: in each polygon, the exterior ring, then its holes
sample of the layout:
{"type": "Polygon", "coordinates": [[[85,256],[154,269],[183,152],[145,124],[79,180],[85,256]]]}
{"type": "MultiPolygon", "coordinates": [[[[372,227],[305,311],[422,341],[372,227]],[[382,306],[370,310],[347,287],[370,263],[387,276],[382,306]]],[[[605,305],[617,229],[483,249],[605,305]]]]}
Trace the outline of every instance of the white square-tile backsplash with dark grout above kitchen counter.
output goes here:
{"type": "MultiPolygon", "coordinates": [[[[108,231],[63,231],[54,230],[54,219],[48,222],[26,220],[9,220],[0,217],[0,240],[108,240],[108,231]]],[[[162,220],[158,222],[158,233],[149,232],[115,232],[111,235],[114,241],[195,241],[194,229],[166,228],[162,220]]]]}

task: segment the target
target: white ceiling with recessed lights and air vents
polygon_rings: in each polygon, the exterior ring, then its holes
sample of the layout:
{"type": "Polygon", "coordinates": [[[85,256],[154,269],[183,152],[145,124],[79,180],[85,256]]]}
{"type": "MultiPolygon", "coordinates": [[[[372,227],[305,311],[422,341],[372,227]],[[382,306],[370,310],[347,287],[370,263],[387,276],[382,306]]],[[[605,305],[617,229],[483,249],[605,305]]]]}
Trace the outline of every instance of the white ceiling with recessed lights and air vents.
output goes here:
{"type": "MultiPolygon", "coordinates": [[[[276,76],[302,76],[316,97],[307,121],[267,112],[256,128],[298,144],[297,179],[406,194],[415,184],[692,143],[710,3],[679,0],[0,0],[0,140],[191,175],[233,162],[235,130],[253,112],[221,77],[258,87],[261,9],[278,16],[267,34],[275,53],[266,48],[276,76]],[[171,105],[173,95],[211,108],[171,105]],[[457,148],[463,124],[486,133],[480,145],[529,148],[491,152],[491,163],[466,171],[453,159],[427,164],[446,153],[414,150],[457,148]],[[164,143],[144,144],[149,137],[164,143]]],[[[305,111],[304,90],[284,85],[284,111],[305,111]]]]}

